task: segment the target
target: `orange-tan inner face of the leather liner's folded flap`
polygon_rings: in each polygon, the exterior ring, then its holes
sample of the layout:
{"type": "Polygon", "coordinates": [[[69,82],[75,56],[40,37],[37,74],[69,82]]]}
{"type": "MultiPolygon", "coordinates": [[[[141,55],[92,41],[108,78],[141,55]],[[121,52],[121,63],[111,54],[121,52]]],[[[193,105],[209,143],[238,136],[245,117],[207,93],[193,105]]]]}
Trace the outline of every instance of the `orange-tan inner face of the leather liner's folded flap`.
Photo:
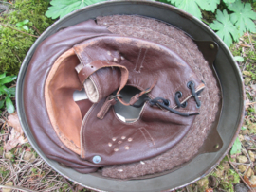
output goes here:
{"type": "Polygon", "coordinates": [[[64,145],[80,154],[82,113],[73,100],[75,90],[82,90],[75,67],[79,60],[73,49],[58,58],[51,67],[45,85],[46,109],[53,129],[64,145]]]}

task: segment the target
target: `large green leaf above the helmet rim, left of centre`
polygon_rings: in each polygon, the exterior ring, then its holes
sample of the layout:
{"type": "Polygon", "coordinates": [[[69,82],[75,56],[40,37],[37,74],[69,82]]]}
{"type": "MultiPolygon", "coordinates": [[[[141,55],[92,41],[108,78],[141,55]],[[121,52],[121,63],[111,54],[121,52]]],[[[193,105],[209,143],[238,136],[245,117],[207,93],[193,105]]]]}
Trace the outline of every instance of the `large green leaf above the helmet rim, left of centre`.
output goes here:
{"type": "Polygon", "coordinates": [[[64,15],[81,9],[85,6],[95,4],[104,0],[52,0],[50,2],[51,7],[46,11],[46,16],[56,19],[58,17],[62,18],[64,15]]]}

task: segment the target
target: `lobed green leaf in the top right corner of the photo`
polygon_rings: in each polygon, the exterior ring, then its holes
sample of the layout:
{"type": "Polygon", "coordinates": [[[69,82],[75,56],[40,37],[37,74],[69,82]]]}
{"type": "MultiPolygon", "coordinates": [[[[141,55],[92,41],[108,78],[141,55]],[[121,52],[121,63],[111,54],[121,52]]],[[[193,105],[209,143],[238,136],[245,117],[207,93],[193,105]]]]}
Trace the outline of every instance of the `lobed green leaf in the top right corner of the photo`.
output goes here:
{"type": "Polygon", "coordinates": [[[241,1],[237,1],[229,4],[228,8],[234,11],[230,15],[230,20],[238,28],[240,36],[246,31],[256,32],[256,26],[252,21],[256,19],[256,12],[252,10],[250,3],[244,4],[241,1]]]}

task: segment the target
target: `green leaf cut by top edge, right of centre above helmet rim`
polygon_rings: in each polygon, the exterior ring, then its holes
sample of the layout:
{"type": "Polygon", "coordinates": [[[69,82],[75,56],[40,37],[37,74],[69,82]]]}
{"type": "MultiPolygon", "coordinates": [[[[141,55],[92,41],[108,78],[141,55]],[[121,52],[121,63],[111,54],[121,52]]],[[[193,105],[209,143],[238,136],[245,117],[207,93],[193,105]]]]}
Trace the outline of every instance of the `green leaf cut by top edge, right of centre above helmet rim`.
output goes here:
{"type": "Polygon", "coordinates": [[[220,0],[168,0],[174,4],[177,8],[183,9],[193,16],[201,19],[202,13],[201,9],[214,12],[220,0]]]}

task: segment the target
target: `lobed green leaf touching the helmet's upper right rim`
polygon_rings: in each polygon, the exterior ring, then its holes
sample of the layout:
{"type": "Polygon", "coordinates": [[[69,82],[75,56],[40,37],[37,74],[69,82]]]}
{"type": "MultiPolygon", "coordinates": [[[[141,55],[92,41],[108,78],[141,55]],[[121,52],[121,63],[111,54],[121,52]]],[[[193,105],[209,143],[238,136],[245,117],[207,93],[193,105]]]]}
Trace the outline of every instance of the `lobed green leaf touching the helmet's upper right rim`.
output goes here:
{"type": "Polygon", "coordinates": [[[232,44],[233,40],[237,41],[239,38],[237,29],[229,20],[229,14],[226,9],[223,12],[221,12],[219,9],[217,10],[216,20],[210,24],[210,28],[216,30],[216,34],[228,46],[232,44]]]}

